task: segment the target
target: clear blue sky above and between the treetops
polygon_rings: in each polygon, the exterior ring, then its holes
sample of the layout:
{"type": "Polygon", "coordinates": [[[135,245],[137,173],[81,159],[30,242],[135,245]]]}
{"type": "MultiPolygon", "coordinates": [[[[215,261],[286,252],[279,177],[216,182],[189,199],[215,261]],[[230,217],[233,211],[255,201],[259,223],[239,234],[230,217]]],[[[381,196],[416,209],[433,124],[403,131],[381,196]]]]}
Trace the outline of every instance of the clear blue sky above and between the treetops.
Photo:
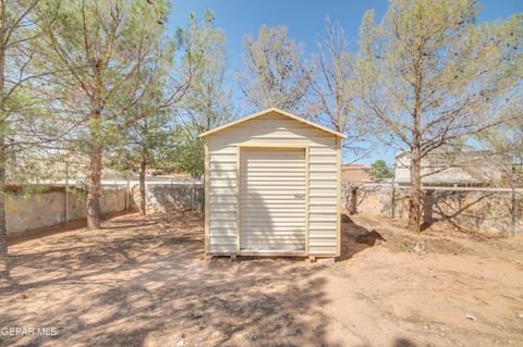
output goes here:
{"type": "MultiPolygon", "coordinates": [[[[483,11],[478,21],[507,18],[523,12],[522,0],[481,0],[483,11]]],[[[242,69],[242,39],[246,34],[257,36],[263,24],[285,25],[289,36],[305,44],[307,55],[316,49],[319,34],[324,34],[325,17],[338,21],[350,39],[351,48],[356,49],[357,30],[366,10],[374,9],[377,18],[387,10],[386,0],[173,0],[173,11],[169,18],[169,29],[184,26],[188,13],[196,15],[206,10],[216,15],[216,25],[228,37],[229,63],[232,69],[242,69]]],[[[243,112],[240,110],[240,114],[243,112]]],[[[361,162],[370,163],[385,159],[392,163],[393,150],[377,148],[361,162]]]]}

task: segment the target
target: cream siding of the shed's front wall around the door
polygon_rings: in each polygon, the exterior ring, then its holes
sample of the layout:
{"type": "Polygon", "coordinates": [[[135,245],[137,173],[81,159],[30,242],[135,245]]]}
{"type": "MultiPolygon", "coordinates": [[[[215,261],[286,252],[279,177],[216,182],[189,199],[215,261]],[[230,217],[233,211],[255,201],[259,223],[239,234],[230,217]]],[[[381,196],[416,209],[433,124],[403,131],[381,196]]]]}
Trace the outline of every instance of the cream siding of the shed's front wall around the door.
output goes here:
{"type": "Polygon", "coordinates": [[[207,137],[209,252],[236,252],[239,145],[308,146],[308,253],[336,256],[338,237],[337,137],[271,112],[207,137]]]}

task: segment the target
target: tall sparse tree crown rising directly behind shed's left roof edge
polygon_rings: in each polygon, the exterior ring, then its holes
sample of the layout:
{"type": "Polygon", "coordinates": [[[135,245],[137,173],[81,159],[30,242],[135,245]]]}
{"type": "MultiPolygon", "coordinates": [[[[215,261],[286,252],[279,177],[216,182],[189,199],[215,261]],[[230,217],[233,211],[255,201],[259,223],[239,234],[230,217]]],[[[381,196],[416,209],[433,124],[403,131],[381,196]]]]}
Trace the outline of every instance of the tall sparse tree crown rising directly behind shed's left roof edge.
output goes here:
{"type": "Polygon", "coordinates": [[[178,169],[199,177],[204,173],[204,141],[198,135],[232,120],[232,88],[228,84],[227,37],[215,26],[210,11],[200,22],[192,14],[183,41],[191,47],[184,66],[191,69],[191,84],[180,106],[173,144],[162,150],[162,168],[178,169]]]}

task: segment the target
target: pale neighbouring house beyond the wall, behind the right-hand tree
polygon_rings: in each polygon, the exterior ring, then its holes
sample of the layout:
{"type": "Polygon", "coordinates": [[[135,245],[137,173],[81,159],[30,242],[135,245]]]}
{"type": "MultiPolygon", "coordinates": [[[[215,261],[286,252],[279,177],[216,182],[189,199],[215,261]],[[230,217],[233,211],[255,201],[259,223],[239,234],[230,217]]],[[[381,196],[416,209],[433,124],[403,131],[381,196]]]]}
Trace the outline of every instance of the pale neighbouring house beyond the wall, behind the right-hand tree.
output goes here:
{"type": "MultiPolygon", "coordinates": [[[[467,151],[461,154],[434,153],[422,159],[422,184],[425,186],[484,187],[498,182],[501,172],[486,160],[490,153],[467,151]]],[[[409,152],[396,157],[394,182],[411,183],[409,152]]]]}

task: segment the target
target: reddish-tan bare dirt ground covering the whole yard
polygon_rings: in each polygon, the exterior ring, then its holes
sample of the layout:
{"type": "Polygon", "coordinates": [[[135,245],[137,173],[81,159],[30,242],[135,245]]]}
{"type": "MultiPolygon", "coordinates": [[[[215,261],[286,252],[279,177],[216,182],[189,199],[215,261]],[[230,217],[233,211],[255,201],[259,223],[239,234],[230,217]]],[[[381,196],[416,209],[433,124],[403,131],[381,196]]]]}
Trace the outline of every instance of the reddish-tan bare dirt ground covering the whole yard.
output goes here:
{"type": "Polygon", "coordinates": [[[11,245],[1,346],[523,346],[523,236],[344,219],[335,264],[208,259],[203,216],[11,245]],[[56,327],[5,336],[4,327],[56,327]]]}

